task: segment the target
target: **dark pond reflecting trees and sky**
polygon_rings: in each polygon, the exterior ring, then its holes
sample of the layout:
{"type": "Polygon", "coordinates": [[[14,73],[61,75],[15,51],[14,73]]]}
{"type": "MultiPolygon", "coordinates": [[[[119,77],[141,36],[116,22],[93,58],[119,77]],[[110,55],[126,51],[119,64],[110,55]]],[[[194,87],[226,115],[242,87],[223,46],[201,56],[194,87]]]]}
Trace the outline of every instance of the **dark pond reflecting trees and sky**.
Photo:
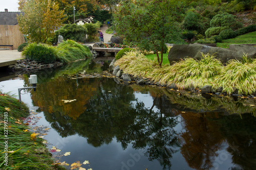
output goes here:
{"type": "Polygon", "coordinates": [[[9,77],[0,89],[17,95],[37,75],[36,91],[22,93],[31,110],[25,121],[67,168],[256,167],[255,99],[124,85],[108,74],[110,59],[9,77]]]}

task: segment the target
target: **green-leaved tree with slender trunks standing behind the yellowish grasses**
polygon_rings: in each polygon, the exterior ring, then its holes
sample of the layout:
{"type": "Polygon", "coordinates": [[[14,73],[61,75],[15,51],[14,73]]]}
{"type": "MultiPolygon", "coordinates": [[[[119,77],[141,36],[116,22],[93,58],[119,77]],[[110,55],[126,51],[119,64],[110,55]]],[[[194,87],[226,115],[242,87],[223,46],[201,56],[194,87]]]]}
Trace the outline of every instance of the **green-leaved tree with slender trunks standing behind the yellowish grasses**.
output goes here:
{"type": "Polygon", "coordinates": [[[181,3],[174,0],[122,1],[115,14],[117,32],[127,41],[139,42],[141,47],[155,51],[161,67],[165,43],[180,40],[176,20],[183,8],[181,3]]]}

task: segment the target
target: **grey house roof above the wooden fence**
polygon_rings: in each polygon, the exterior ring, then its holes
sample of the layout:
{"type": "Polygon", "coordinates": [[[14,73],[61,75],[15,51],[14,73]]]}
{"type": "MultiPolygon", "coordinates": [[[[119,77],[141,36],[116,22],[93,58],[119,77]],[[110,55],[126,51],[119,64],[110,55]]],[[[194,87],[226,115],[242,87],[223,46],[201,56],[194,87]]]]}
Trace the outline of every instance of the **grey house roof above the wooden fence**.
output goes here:
{"type": "Polygon", "coordinates": [[[14,26],[18,24],[17,14],[23,14],[23,12],[0,12],[0,25],[14,26]]]}

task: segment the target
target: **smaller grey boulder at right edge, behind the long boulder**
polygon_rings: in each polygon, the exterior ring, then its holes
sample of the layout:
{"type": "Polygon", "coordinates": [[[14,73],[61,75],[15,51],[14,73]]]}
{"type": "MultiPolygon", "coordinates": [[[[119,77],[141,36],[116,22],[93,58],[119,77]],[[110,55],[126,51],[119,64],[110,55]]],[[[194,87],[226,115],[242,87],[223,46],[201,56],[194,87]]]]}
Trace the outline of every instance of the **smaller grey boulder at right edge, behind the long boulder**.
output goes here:
{"type": "Polygon", "coordinates": [[[229,45],[229,50],[247,54],[248,58],[255,58],[256,57],[256,46],[230,44],[229,45]]]}

